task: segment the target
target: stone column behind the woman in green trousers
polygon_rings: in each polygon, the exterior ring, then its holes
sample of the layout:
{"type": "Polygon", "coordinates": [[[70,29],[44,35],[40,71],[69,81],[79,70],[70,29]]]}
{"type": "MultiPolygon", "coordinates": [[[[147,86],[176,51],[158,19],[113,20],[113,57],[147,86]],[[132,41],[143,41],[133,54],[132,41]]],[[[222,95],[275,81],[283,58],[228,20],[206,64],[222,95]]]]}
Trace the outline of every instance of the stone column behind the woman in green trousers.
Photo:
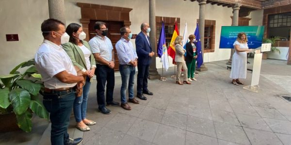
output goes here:
{"type": "MultiPolygon", "coordinates": [[[[200,42],[201,42],[201,51],[202,51],[202,58],[204,58],[204,29],[205,29],[205,7],[206,7],[206,0],[197,0],[199,2],[199,33],[200,33],[200,42]]],[[[201,65],[200,68],[196,69],[197,71],[207,71],[208,69],[204,65],[201,65]]]]}

